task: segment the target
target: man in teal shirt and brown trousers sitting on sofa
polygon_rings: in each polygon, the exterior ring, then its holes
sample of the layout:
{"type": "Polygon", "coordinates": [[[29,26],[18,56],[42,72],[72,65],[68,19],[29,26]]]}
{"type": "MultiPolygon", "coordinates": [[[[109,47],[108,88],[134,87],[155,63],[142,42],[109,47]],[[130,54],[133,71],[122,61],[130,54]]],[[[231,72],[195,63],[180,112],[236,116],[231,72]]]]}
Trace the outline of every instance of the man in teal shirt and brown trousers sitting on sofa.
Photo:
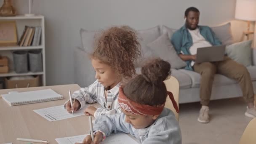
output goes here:
{"type": "Polygon", "coordinates": [[[256,108],[253,107],[254,93],[251,76],[247,69],[229,57],[225,56],[223,61],[195,63],[197,48],[212,45],[221,45],[221,41],[216,37],[210,27],[199,26],[200,12],[195,7],[187,8],[185,11],[185,24],[177,30],[171,43],[179,54],[180,58],[187,63],[187,70],[194,70],[200,73],[200,99],[202,108],[200,109],[198,121],[200,123],[209,122],[209,107],[213,78],[216,73],[225,75],[239,82],[243,91],[243,97],[248,104],[245,115],[256,117],[256,108]]]}

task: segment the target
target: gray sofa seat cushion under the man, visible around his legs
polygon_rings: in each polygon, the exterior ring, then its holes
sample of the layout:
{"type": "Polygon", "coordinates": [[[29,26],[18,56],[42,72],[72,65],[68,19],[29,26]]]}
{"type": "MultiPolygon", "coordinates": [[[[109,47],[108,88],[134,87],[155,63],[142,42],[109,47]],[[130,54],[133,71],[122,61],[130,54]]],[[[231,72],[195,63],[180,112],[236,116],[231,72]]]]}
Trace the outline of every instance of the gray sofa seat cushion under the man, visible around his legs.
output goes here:
{"type": "MultiPolygon", "coordinates": [[[[179,69],[178,71],[184,72],[187,75],[189,75],[189,77],[192,80],[192,85],[191,85],[192,88],[200,87],[201,76],[199,73],[190,71],[190,70],[185,70],[185,69],[179,69]]],[[[214,80],[213,80],[213,85],[229,85],[229,84],[234,84],[234,83],[236,83],[235,80],[232,80],[228,77],[225,77],[224,75],[219,75],[219,74],[215,74],[214,80]]]]}

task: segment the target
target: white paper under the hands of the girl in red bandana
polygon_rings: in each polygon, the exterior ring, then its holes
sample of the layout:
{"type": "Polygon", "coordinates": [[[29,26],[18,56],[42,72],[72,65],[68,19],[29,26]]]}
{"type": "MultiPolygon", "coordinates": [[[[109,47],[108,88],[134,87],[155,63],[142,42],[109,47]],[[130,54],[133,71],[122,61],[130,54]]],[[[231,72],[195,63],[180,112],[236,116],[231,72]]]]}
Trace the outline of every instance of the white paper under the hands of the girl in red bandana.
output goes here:
{"type": "MultiPolygon", "coordinates": [[[[75,144],[76,142],[82,143],[83,139],[87,135],[80,135],[80,136],[72,136],[72,137],[65,137],[65,138],[59,138],[55,139],[58,144],[75,144]]],[[[128,134],[126,133],[115,133],[110,136],[107,136],[107,138],[101,142],[101,144],[139,144],[137,141],[132,139],[128,134]]]]}

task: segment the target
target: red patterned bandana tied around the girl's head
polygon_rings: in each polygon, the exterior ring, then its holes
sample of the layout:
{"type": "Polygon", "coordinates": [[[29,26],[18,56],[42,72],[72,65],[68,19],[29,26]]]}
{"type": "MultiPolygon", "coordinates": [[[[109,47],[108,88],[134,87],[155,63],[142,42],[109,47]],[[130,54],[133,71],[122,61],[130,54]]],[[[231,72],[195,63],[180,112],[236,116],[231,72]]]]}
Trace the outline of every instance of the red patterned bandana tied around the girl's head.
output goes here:
{"type": "MultiPolygon", "coordinates": [[[[168,91],[168,95],[173,103],[176,112],[179,113],[179,108],[176,101],[173,98],[173,94],[168,91]]],[[[157,106],[149,106],[146,104],[138,104],[128,99],[123,93],[123,88],[119,88],[118,103],[125,111],[130,112],[133,115],[160,115],[165,107],[165,104],[157,106]]]]}

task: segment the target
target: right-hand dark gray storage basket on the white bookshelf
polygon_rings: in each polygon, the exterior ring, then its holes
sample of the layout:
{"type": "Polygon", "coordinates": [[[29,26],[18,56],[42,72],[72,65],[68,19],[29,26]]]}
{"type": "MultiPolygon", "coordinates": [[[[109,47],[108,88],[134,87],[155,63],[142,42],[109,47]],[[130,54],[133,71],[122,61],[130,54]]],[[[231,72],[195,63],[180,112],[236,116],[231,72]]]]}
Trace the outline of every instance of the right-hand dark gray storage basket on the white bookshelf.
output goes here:
{"type": "Polygon", "coordinates": [[[32,50],[29,51],[29,69],[31,72],[42,72],[42,51],[32,50]]]}

